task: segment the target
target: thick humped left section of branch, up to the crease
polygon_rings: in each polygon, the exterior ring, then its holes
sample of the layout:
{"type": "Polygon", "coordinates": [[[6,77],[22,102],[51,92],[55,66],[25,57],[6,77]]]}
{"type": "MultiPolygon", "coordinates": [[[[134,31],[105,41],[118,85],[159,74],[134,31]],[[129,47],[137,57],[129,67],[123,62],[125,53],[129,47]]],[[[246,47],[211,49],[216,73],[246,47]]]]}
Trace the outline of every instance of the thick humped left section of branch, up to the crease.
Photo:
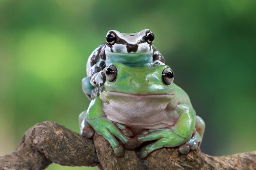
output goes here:
{"type": "Polygon", "coordinates": [[[52,162],[63,166],[96,166],[92,140],[52,121],[38,123],[10,155],[0,157],[0,170],[43,170],[52,162]]]}

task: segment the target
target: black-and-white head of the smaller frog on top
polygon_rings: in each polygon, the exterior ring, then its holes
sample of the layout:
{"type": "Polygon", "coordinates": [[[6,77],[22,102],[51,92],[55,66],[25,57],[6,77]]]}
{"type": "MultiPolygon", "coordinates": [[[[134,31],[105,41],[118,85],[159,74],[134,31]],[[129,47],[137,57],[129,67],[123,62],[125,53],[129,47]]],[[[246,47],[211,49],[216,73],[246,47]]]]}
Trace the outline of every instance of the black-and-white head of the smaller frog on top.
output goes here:
{"type": "Polygon", "coordinates": [[[120,33],[116,30],[110,30],[106,35],[105,54],[109,60],[106,62],[143,65],[140,63],[146,63],[150,57],[152,58],[154,39],[154,34],[149,29],[144,29],[139,33],[120,33]]]}

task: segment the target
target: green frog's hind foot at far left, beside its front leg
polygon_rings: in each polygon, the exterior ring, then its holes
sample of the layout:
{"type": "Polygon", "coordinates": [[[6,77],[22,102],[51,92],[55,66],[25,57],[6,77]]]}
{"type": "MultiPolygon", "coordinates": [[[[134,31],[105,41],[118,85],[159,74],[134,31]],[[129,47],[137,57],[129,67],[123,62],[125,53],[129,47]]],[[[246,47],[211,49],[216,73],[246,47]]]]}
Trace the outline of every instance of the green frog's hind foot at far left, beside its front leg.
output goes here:
{"type": "Polygon", "coordinates": [[[93,137],[95,131],[86,120],[86,110],[79,115],[79,126],[80,126],[81,136],[84,136],[86,138],[93,137]]]}

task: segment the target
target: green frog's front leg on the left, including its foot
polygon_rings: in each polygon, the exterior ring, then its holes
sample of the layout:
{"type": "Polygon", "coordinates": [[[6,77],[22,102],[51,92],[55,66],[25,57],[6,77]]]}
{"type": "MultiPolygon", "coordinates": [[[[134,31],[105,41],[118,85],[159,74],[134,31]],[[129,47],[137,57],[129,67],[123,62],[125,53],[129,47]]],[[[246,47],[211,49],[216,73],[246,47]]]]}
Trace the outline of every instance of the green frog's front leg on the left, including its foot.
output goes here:
{"type": "Polygon", "coordinates": [[[99,133],[99,135],[102,135],[106,140],[108,140],[115,152],[115,155],[122,156],[124,154],[124,148],[119,144],[117,139],[119,139],[127,149],[132,150],[136,148],[137,140],[127,137],[123,133],[127,132],[130,134],[128,129],[124,125],[116,125],[111,120],[106,118],[105,114],[103,113],[101,99],[99,97],[96,97],[91,101],[86,116],[87,121],[92,128],[99,133]]]}

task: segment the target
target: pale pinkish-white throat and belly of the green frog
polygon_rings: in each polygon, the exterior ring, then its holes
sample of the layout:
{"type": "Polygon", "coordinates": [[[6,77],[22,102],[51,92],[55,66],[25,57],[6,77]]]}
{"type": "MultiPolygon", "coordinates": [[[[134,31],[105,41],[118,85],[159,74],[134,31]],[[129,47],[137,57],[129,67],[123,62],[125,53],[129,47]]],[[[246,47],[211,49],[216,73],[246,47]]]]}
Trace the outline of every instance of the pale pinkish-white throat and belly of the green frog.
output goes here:
{"type": "Polygon", "coordinates": [[[120,95],[101,93],[103,111],[108,119],[124,124],[133,131],[170,127],[178,118],[175,109],[170,107],[172,96],[120,95]]]}

